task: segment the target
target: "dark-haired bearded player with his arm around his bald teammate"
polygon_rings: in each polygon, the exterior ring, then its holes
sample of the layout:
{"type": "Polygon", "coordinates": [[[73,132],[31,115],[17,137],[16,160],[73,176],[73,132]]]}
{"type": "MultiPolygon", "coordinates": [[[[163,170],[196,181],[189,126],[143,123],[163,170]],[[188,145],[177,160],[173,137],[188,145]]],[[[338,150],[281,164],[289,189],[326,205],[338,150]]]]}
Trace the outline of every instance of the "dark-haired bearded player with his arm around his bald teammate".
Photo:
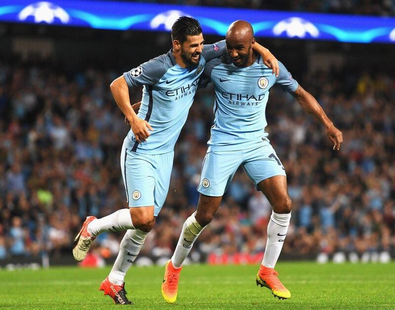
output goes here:
{"type": "MultiPolygon", "coordinates": [[[[73,255],[82,261],[92,241],[103,231],[127,230],[117,260],[100,290],[117,304],[126,298],[124,277],[144,243],[165,201],[173,165],[174,144],[192,105],[207,61],[226,53],[225,42],[203,46],[198,21],[180,17],[172,26],[173,48],[124,73],[111,84],[131,130],[122,145],[120,163],[129,209],[102,219],[87,217],[74,240],[73,255]],[[138,115],[130,105],[129,90],[143,87],[138,115]]],[[[257,51],[276,72],[276,58],[263,46],[257,51]]]]}

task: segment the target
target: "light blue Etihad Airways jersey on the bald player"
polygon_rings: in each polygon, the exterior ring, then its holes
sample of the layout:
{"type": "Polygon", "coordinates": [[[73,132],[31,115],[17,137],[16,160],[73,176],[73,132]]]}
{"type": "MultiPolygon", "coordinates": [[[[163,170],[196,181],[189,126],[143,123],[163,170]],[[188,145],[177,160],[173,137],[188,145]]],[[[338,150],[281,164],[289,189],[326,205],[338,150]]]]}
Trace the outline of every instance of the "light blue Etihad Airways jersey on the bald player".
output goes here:
{"type": "Polygon", "coordinates": [[[259,55],[245,68],[232,64],[228,55],[207,63],[199,87],[213,82],[215,89],[215,119],[207,142],[208,152],[236,151],[265,144],[269,89],[275,84],[287,92],[298,88],[285,66],[278,64],[280,72],[276,77],[259,55]]]}

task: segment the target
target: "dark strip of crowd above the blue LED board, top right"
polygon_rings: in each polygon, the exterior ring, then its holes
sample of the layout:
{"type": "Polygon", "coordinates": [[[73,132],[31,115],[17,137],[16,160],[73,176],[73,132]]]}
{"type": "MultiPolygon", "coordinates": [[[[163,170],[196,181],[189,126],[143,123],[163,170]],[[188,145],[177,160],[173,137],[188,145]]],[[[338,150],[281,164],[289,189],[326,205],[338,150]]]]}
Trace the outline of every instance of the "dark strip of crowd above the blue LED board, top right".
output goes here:
{"type": "Polygon", "coordinates": [[[337,14],[395,15],[395,0],[138,0],[138,2],[337,14]]]}

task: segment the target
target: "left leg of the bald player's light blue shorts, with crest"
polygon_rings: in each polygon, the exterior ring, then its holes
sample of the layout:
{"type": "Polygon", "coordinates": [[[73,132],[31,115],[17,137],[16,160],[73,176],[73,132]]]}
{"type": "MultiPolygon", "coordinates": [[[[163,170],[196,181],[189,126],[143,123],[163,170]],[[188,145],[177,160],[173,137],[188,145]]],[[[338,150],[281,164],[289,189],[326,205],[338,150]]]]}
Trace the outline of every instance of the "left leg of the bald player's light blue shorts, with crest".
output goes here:
{"type": "Polygon", "coordinates": [[[241,163],[240,151],[206,153],[197,191],[206,196],[222,196],[241,163]]]}

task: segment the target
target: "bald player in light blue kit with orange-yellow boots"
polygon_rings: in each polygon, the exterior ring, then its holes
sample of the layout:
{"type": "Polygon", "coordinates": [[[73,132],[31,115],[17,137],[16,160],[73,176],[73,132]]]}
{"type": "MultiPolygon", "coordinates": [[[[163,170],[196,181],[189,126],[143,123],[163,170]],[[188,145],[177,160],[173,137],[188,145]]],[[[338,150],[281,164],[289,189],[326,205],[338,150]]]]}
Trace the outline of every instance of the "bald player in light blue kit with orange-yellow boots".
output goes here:
{"type": "Polygon", "coordinates": [[[215,120],[197,188],[200,192],[197,211],[185,221],[175,252],[165,267],[162,296],[168,303],[176,301],[181,266],[200,232],[212,220],[240,165],[273,208],[256,284],[268,287],[279,299],[291,297],[274,269],[291,218],[291,199],[284,167],[265,132],[266,103],[273,85],[278,84],[291,93],[306,112],[324,125],[334,149],[339,150],[343,141],[342,133],[316,99],[298,85],[281,62],[279,76],[273,75],[254,53],[254,44],[251,25],[245,21],[234,22],[226,34],[228,54],[208,62],[203,72],[201,86],[214,83],[215,120]]]}

